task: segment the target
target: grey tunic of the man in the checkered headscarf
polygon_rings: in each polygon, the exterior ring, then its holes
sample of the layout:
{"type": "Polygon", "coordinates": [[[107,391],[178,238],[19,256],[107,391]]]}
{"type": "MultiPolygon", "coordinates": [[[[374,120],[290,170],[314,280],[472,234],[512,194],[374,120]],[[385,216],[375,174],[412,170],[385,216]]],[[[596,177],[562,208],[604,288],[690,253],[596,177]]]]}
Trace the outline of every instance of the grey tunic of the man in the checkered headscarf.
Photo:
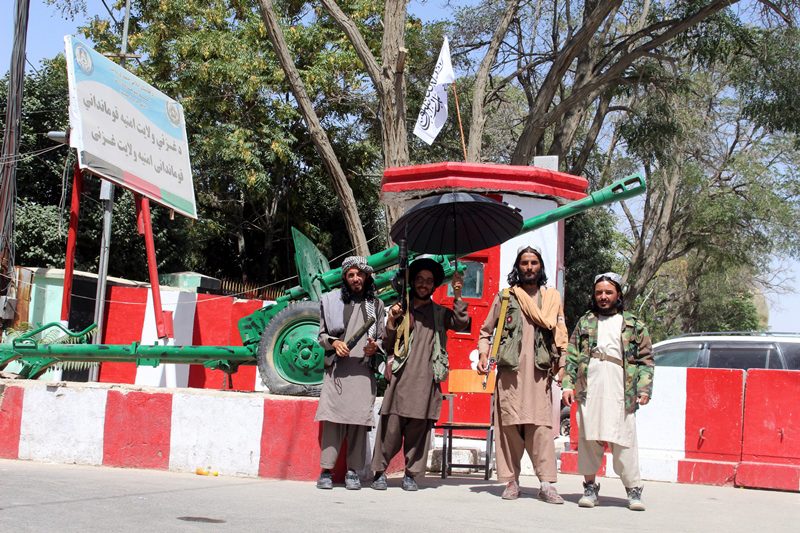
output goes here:
{"type": "MultiPolygon", "coordinates": [[[[319,343],[325,350],[332,350],[331,343],[337,339],[349,339],[353,332],[365,322],[362,302],[351,301],[345,305],[353,306],[353,310],[343,338],[331,337],[327,334],[325,313],[320,313],[319,343]]],[[[376,300],[375,323],[378,328],[376,342],[379,346],[381,345],[380,339],[384,336],[384,315],[383,302],[376,300]]],[[[350,350],[349,357],[335,357],[333,364],[325,367],[322,392],[314,420],[369,427],[375,425],[372,416],[377,392],[375,375],[370,365],[362,364],[367,337],[368,334],[358,341],[358,344],[350,350]]]]}

